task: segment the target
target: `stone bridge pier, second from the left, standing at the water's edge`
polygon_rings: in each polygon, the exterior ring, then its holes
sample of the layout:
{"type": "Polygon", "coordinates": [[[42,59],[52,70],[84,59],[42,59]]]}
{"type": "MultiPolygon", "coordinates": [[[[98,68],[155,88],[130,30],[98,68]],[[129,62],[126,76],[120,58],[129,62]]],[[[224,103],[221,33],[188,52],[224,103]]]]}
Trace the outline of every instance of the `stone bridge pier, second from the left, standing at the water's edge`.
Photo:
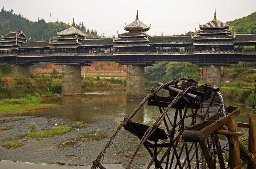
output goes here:
{"type": "Polygon", "coordinates": [[[82,92],[81,87],[81,66],[62,65],[62,95],[77,95],[82,92]]]}

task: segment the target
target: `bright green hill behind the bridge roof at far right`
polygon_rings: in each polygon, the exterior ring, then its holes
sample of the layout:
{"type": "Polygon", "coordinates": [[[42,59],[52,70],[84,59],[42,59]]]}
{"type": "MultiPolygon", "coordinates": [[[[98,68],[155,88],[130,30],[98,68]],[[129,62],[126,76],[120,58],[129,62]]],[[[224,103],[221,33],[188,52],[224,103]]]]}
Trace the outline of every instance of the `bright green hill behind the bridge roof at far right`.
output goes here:
{"type": "Polygon", "coordinates": [[[254,33],[256,34],[256,12],[234,21],[226,22],[236,33],[254,33]]]}

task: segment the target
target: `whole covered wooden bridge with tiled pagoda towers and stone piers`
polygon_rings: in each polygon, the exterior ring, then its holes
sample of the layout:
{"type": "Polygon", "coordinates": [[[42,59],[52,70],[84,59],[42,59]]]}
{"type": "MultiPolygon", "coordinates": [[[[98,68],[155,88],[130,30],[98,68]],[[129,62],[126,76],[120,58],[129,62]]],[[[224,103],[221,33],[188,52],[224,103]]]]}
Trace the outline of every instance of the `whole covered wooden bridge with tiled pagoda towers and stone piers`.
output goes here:
{"type": "Polygon", "coordinates": [[[136,19],[125,25],[127,32],[112,38],[87,39],[74,22],[48,41],[30,41],[31,37],[22,31],[11,31],[0,40],[0,63],[12,64],[17,67],[13,68],[13,76],[25,77],[29,77],[29,66],[34,63],[65,65],[63,95],[81,93],[81,66],[95,61],[125,64],[127,98],[136,99],[144,97],[144,67],[158,61],[189,61],[206,66],[206,83],[216,86],[220,86],[220,66],[256,61],[256,34],[233,34],[227,24],[216,18],[216,13],[214,19],[199,24],[192,36],[150,36],[150,28],[137,13],[136,19]]]}

